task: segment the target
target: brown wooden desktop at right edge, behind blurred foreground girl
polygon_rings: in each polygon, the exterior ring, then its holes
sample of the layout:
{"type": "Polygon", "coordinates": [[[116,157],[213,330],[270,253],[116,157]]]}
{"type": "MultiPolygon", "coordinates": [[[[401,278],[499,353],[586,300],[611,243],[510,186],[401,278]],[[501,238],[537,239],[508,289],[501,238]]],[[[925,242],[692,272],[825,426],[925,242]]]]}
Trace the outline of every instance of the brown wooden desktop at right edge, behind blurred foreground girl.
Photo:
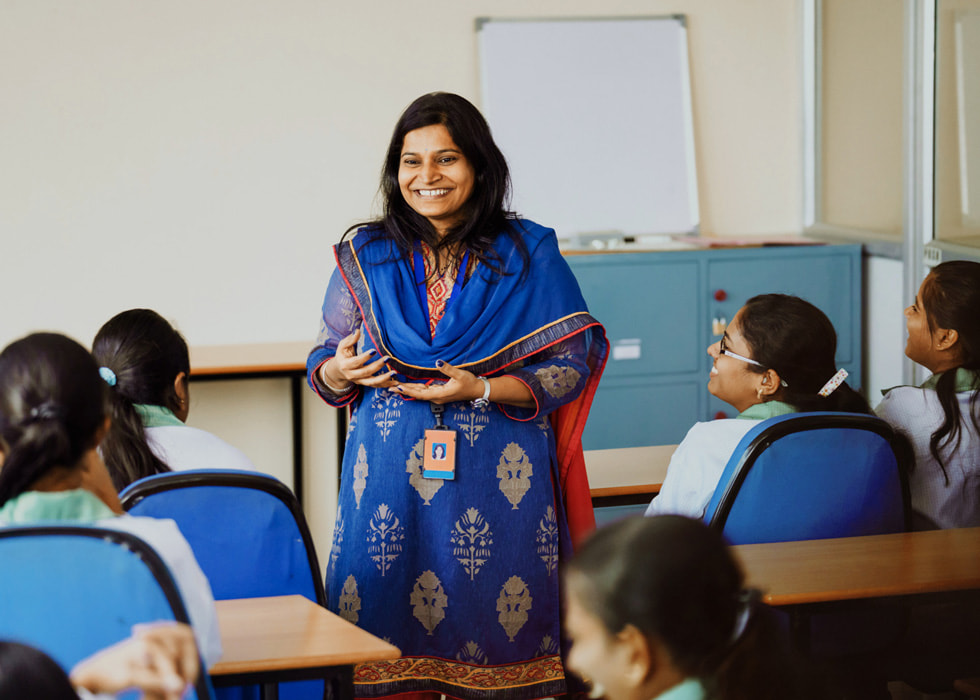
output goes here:
{"type": "Polygon", "coordinates": [[[980,589],[980,527],[734,550],[748,584],[775,606],[980,589]]]}

